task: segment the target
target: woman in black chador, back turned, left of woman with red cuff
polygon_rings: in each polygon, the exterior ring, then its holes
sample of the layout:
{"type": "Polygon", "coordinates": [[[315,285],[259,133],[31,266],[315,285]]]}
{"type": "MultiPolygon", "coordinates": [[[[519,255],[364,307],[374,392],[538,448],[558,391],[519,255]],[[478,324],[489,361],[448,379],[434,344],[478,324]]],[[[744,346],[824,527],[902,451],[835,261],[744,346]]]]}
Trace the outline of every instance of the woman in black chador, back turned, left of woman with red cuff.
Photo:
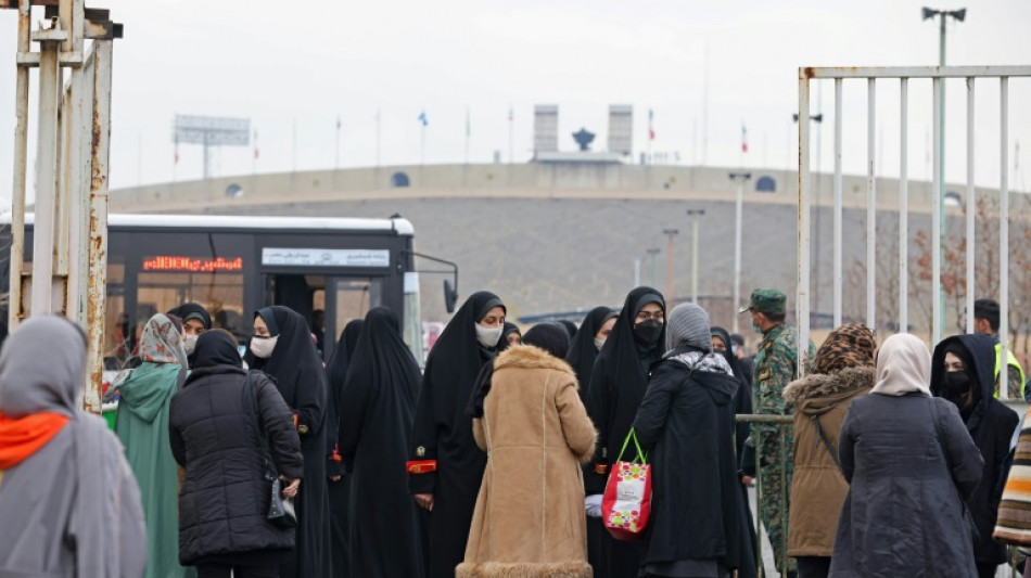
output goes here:
{"type": "Polygon", "coordinates": [[[405,473],[420,381],[397,317],[369,311],[340,400],[340,453],[352,472],[351,576],[423,576],[419,511],[405,473]]]}

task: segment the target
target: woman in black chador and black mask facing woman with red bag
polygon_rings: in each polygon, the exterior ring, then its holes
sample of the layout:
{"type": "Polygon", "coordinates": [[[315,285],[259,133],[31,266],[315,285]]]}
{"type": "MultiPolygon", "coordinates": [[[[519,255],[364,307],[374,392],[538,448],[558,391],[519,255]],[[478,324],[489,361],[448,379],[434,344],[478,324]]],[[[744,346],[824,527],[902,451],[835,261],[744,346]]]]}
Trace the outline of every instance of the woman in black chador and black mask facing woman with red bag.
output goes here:
{"type": "MultiPolygon", "coordinates": [[[[649,369],[662,358],[664,345],[665,299],[657,290],[637,287],[626,296],[590,375],[587,413],[598,428],[598,450],[584,476],[588,515],[600,515],[609,468],[620,457],[645,397],[649,369]]],[[[611,578],[636,578],[640,542],[622,542],[606,534],[600,557],[611,578]]]]}

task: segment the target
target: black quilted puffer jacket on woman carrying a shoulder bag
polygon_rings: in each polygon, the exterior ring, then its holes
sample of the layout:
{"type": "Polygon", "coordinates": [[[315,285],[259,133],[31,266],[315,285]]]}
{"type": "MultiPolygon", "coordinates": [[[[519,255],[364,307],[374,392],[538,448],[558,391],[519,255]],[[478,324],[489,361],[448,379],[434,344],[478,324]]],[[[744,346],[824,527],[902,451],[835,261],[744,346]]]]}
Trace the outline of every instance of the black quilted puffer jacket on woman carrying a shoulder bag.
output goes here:
{"type": "MultiPolygon", "coordinates": [[[[171,451],[186,467],[179,492],[179,562],[290,549],[294,530],[266,519],[271,484],[246,373],[231,365],[193,371],[171,398],[171,451]]],[[[280,474],[301,477],[301,440],[290,408],[263,373],[251,374],[269,451],[280,474]]]]}

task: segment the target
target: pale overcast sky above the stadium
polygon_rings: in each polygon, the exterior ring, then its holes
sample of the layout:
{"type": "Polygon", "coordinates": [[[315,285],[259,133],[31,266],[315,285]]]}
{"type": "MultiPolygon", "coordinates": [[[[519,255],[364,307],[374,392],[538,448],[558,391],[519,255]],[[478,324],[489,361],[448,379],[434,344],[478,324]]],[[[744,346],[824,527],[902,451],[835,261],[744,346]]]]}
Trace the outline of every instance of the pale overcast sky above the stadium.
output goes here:
{"type": "MultiPolygon", "coordinates": [[[[534,104],[558,104],[560,147],[581,127],[606,142],[608,105],[634,105],[635,150],[679,153],[680,164],[742,162],[793,166],[791,114],[799,66],[932,65],[938,25],[922,22],[921,2],[610,0],[438,0],[290,3],[268,0],[107,0],[125,24],[115,43],[111,184],[200,178],[200,146],[180,145],[174,164],[175,114],[246,117],[253,146],[222,149],[216,175],[417,164],[425,111],[427,163],[488,163],[509,156],[509,108],[516,162],[530,158],[534,104]],[[707,74],[708,73],[708,82],[707,74]],[[704,120],[704,94],[708,123],[704,120]],[[707,128],[708,127],[708,128],[707,128]],[[708,145],[703,144],[708,133],[708,145]],[[295,136],[295,137],[294,137],[295,136]],[[296,142],[296,144],[294,144],[296,142]]],[[[959,5],[935,8],[954,9],[959,5]]],[[[967,21],[949,24],[949,64],[1031,64],[1031,2],[981,0],[967,21]]],[[[35,20],[41,18],[41,12],[35,20]]],[[[0,11],[0,197],[10,198],[14,129],[15,11],[0,11]]],[[[820,162],[832,169],[833,87],[823,90],[820,162]]],[[[866,85],[847,82],[844,165],[866,160],[866,85]]],[[[965,94],[947,89],[949,178],[966,179],[965,94]]],[[[813,111],[819,110],[815,101],[813,111]]],[[[878,88],[880,174],[899,167],[899,84],[878,88]]],[[[998,88],[978,85],[978,181],[997,185],[998,88]]],[[[35,92],[34,92],[35,107],[35,92]]],[[[928,176],[930,81],[912,81],[909,171],[928,176]]],[[[1028,189],[1031,79],[1010,82],[1010,163],[1020,143],[1016,189],[1028,189]]],[[[35,139],[33,139],[35,140],[35,139]]],[[[815,144],[815,136],[814,136],[815,144]]],[[[30,143],[29,160],[36,156],[30,143]]],[[[635,153],[635,159],[637,153],[635,153]]],[[[814,156],[814,168],[816,158],[814,156]]],[[[31,178],[29,183],[31,185],[31,178]]],[[[29,192],[31,196],[31,192],[29,192]]]]}

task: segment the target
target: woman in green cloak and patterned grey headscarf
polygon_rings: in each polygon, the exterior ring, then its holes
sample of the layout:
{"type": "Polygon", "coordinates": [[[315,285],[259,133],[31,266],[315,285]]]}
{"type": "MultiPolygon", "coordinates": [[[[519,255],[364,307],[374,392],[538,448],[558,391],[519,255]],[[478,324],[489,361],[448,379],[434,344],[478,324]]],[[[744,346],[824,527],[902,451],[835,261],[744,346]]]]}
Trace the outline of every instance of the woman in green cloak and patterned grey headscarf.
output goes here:
{"type": "Polygon", "coordinates": [[[140,359],[118,388],[115,434],[143,494],[147,577],[181,578],[188,570],[179,565],[179,476],[168,440],[171,396],[188,373],[181,325],[163,313],[152,317],[140,336],[140,359]]]}

